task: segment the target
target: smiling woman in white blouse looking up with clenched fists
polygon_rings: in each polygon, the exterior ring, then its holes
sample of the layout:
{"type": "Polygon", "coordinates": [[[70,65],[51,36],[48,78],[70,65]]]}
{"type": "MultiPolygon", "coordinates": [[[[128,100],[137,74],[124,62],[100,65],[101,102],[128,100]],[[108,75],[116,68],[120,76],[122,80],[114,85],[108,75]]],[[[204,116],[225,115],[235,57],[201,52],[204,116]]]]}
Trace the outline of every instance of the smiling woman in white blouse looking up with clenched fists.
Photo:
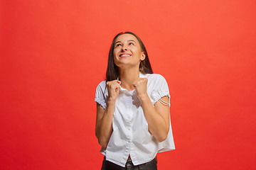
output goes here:
{"type": "Polygon", "coordinates": [[[169,101],[166,80],[153,74],[142,40],[117,34],[95,95],[102,169],[157,169],[156,154],[175,149],[169,101]]]}

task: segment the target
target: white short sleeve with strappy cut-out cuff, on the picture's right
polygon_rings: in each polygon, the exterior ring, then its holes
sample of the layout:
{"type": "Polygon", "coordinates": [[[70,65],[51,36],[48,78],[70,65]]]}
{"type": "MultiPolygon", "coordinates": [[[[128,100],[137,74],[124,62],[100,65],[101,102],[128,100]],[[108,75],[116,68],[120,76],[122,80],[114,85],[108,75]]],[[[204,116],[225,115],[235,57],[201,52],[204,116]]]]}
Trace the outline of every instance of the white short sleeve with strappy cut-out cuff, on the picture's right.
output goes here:
{"type": "MultiPolygon", "coordinates": [[[[170,103],[170,94],[169,94],[169,87],[167,84],[166,79],[164,79],[163,76],[160,74],[156,74],[153,78],[152,81],[154,81],[154,88],[151,93],[151,98],[152,98],[152,103],[153,105],[156,104],[156,101],[159,101],[160,98],[164,96],[168,96],[169,98],[169,103],[170,103]]],[[[170,106],[170,105],[169,105],[170,106]]]]}

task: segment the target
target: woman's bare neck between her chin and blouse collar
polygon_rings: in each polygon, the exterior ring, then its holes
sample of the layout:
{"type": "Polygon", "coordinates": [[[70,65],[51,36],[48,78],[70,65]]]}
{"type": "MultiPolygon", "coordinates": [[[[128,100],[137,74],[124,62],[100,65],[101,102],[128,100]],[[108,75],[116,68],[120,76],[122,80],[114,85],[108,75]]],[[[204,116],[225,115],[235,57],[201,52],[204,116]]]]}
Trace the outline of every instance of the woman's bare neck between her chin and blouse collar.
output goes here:
{"type": "Polygon", "coordinates": [[[122,88],[132,91],[134,89],[134,81],[139,78],[139,68],[119,69],[119,74],[122,88]]]}

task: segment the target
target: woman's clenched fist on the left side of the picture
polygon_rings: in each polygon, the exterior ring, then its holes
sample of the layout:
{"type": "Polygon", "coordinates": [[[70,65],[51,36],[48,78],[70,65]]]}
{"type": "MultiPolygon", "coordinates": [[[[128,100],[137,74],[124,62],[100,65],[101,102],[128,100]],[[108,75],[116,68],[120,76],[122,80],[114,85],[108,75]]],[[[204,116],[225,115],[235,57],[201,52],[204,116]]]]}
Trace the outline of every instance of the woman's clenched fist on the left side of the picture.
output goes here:
{"type": "Polygon", "coordinates": [[[107,81],[108,100],[116,101],[119,94],[121,81],[113,80],[107,81]]]}

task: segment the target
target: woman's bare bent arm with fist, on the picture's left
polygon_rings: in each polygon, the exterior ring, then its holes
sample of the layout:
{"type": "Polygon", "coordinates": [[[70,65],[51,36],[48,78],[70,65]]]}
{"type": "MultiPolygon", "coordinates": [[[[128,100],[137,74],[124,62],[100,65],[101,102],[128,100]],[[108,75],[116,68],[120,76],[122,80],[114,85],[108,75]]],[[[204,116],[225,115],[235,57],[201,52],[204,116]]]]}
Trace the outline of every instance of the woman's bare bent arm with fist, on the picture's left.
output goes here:
{"type": "Polygon", "coordinates": [[[114,116],[114,104],[119,94],[120,83],[121,81],[117,80],[107,82],[109,98],[107,100],[107,107],[105,110],[97,103],[95,134],[102,147],[107,147],[107,143],[109,142],[113,132],[112,119],[114,116]]]}

